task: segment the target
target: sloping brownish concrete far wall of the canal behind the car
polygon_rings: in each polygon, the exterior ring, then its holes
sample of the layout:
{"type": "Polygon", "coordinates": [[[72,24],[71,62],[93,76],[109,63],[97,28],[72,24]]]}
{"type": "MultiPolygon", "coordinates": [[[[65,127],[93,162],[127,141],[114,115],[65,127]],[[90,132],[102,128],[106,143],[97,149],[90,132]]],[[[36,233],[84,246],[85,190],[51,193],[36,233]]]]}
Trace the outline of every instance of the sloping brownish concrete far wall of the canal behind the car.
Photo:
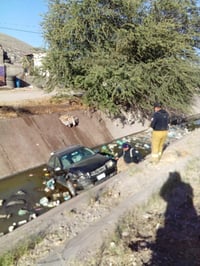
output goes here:
{"type": "Polygon", "coordinates": [[[79,117],[77,127],[65,126],[56,113],[0,120],[0,179],[44,164],[52,151],[65,146],[94,147],[145,128],[117,125],[98,113],[71,114],[79,117]]]}

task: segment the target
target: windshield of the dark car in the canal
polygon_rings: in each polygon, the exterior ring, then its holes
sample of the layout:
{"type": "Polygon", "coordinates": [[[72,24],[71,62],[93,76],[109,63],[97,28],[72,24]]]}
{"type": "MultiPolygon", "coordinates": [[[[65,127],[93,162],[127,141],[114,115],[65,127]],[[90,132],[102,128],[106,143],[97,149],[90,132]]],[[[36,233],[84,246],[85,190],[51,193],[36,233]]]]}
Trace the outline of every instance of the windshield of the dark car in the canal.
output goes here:
{"type": "Polygon", "coordinates": [[[69,168],[72,164],[74,163],[78,163],[82,160],[85,160],[91,156],[93,156],[95,154],[95,152],[89,148],[85,148],[85,147],[80,147],[74,151],[72,151],[71,153],[67,153],[62,155],[62,157],[60,158],[62,165],[63,165],[63,169],[67,169],[69,168]]]}

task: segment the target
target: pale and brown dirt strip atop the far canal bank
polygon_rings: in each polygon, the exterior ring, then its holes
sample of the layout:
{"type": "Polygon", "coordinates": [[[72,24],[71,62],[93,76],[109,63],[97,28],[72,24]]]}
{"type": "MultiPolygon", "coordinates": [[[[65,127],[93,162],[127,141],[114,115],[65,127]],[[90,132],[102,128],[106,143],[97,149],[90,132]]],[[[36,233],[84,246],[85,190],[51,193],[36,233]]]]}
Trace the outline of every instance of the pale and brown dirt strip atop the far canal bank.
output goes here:
{"type": "Polygon", "coordinates": [[[38,88],[0,90],[0,118],[85,109],[77,97],[61,99],[38,88]]]}

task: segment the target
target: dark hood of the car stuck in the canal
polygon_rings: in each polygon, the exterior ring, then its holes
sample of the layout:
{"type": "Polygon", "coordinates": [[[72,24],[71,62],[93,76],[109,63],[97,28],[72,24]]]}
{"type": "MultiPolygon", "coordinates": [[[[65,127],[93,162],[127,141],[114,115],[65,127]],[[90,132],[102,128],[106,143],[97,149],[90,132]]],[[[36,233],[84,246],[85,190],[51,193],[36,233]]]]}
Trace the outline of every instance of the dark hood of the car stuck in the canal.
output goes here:
{"type": "Polygon", "coordinates": [[[95,154],[94,156],[87,158],[85,160],[82,160],[81,162],[75,163],[72,167],[70,167],[70,171],[78,171],[81,172],[91,172],[95,169],[98,169],[105,165],[106,162],[108,162],[110,159],[108,157],[105,157],[101,154],[95,154]]]}

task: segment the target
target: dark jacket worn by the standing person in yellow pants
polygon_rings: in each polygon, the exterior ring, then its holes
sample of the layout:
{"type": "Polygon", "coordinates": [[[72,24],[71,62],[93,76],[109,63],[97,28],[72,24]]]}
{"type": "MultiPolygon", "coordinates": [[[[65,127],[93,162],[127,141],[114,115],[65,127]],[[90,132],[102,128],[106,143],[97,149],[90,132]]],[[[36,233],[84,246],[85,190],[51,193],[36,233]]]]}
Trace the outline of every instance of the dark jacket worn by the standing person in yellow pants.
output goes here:
{"type": "Polygon", "coordinates": [[[153,130],[168,130],[169,114],[167,111],[161,109],[153,114],[151,120],[151,127],[153,130]]]}

